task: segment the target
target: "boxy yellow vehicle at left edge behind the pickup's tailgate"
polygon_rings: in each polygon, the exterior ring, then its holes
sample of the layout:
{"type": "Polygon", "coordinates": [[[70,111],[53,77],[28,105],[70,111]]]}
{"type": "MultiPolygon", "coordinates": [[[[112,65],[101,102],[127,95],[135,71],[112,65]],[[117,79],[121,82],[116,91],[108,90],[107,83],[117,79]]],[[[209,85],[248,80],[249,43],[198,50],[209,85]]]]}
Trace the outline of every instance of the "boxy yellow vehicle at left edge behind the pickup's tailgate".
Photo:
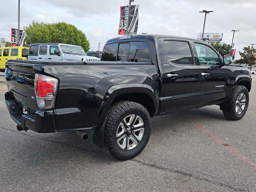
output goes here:
{"type": "Polygon", "coordinates": [[[9,59],[28,59],[28,47],[1,47],[0,71],[4,72],[5,62],[9,59]]]}

